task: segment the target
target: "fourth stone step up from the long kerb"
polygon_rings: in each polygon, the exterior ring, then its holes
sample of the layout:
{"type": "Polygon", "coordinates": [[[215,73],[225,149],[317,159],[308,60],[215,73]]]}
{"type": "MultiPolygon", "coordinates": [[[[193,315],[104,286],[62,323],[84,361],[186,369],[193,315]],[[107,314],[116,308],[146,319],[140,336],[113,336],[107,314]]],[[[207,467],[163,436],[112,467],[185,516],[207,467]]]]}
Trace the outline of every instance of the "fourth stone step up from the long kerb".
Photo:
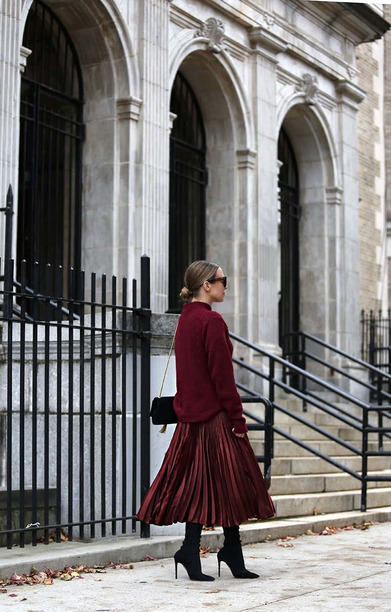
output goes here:
{"type": "MultiPolygon", "coordinates": [[[[252,438],[252,435],[254,435],[255,433],[257,434],[262,433],[262,438],[263,438],[264,432],[263,431],[259,431],[259,432],[250,431],[249,432],[249,439],[251,442],[252,449],[254,449],[254,453],[256,453],[256,455],[263,455],[264,454],[264,441],[263,439],[252,438]]],[[[343,446],[341,446],[340,444],[333,442],[332,440],[305,440],[305,442],[306,444],[309,444],[309,446],[312,446],[314,449],[321,450],[322,453],[325,453],[326,455],[329,455],[329,456],[338,458],[338,455],[340,456],[354,455],[354,452],[352,450],[348,450],[344,448],[343,446]]],[[[360,444],[354,444],[354,446],[361,448],[360,444]]],[[[391,450],[391,441],[384,442],[383,449],[391,450]]],[[[369,442],[368,450],[371,450],[371,451],[378,450],[378,443],[369,442]]],[[[275,458],[279,458],[279,457],[313,457],[314,455],[313,453],[309,452],[309,450],[305,450],[301,446],[298,446],[298,444],[295,444],[294,442],[290,442],[290,440],[275,440],[274,456],[275,458]]]]}

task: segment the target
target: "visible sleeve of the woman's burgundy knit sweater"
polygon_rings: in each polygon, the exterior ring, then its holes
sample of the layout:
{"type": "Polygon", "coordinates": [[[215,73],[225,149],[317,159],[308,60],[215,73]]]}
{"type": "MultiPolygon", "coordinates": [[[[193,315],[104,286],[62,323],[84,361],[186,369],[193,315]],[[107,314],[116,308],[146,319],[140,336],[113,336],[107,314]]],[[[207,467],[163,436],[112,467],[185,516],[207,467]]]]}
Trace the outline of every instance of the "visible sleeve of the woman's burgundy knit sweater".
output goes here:
{"type": "Polygon", "coordinates": [[[216,387],[219,402],[232,420],[233,431],[234,433],[246,433],[246,419],[243,416],[243,407],[233,375],[232,357],[227,344],[226,324],[219,317],[213,317],[207,323],[205,351],[208,357],[208,369],[216,387]]]}

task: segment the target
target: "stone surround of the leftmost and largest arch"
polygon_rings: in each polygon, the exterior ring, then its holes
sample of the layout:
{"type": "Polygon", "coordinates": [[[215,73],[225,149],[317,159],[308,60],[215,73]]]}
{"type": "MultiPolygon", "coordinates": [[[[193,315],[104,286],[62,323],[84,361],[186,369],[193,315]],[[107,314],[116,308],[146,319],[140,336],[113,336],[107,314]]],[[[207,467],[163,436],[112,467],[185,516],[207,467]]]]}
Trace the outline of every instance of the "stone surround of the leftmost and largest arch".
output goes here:
{"type": "MultiPolygon", "coordinates": [[[[25,0],[21,32],[33,0],[25,0]]],[[[131,121],[140,110],[140,76],[126,24],[113,0],[44,0],[77,50],[84,88],[82,267],[126,274],[119,249],[129,244],[124,222],[131,201],[131,121]],[[121,184],[121,190],[120,190],[121,184]]]]}

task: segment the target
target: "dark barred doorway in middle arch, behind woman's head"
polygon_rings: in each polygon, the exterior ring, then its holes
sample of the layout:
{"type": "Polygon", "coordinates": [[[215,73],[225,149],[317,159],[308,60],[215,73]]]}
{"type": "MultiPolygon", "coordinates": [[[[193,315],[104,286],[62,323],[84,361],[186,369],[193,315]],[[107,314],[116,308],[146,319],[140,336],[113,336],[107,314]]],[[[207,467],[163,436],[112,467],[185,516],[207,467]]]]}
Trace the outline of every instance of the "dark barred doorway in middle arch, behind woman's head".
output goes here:
{"type": "Polygon", "coordinates": [[[188,81],[178,72],[170,111],[169,311],[181,312],[186,267],[205,259],[206,144],[202,115],[188,81]]]}

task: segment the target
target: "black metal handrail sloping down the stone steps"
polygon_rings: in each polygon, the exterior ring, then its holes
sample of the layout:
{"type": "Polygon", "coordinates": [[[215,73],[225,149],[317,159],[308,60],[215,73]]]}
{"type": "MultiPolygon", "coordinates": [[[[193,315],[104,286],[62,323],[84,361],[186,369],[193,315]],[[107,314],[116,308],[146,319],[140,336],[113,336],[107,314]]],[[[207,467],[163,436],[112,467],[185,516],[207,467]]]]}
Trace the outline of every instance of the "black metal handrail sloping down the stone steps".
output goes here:
{"type": "MultiPolygon", "coordinates": [[[[305,337],[308,337],[310,340],[314,340],[314,341],[319,340],[319,338],[311,336],[311,334],[303,334],[303,336],[304,335],[305,337]]],[[[329,457],[328,455],[326,455],[325,453],[317,449],[314,449],[306,442],[303,442],[302,440],[295,438],[295,436],[292,436],[290,433],[287,433],[280,427],[276,427],[276,425],[274,425],[274,422],[273,422],[273,427],[272,427],[272,455],[273,455],[273,435],[274,433],[278,433],[284,438],[294,442],[294,444],[297,444],[298,446],[308,450],[313,455],[316,455],[316,457],[320,457],[323,460],[327,461],[328,463],[331,463],[336,468],[341,469],[341,471],[347,472],[347,474],[349,474],[350,476],[354,477],[357,480],[360,480],[361,482],[361,490],[362,490],[361,509],[362,509],[362,512],[365,512],[366,510],[366,483],[369,482],[370,480],[371,481],[381,480],[381,481],[391,482],[391,475],[390,476],[382,476],[382,475],[368,476],[368,473],[367,473],[368,457],[391,455],[391,451],[386,451],[382,449],[383,436],[386,436],[387,438],[391,438],[391,435],[390,435],[391,428],[390,427],[387,428],[383,426],[382,416],[384,415],[388,418],[391,417],[391,414],[388,412],[391,406],[390,405],[386,405],[386,406],[372,405],[370,402],[355,397],[354,395],[350,394],[346,390],[341,389],[341,387],[338,387],[335,384],[330,383],[329,381],[325,379],[322,379],[320,376],[317,376],[316,374],[308,371],[307,369],[303,369],[302,367],[298,367],[298,365],[292,364],[291,362],[289,362],[289,360],[284,359],[284,357],[279,357],[278,355],[270,353],[270,351],[267,351],[261,348],[260,346],[257,346],[248,340],[245,340],[245,338],[241,338],[237,334],[233,334],[233,332],[230,332],[230,337],[232,338],[232,340],[236,340],[239,343],[241,343],[241,345],[248,346],[248,348],[251,348],[252,350],[256,351],[256,353],[259,353],[262,356],[267,357],[268,372],[259,370],[259,368],[255,368],[252,365],[247,364],[244,360],[237,359],[236,357],[233,357],[233,362],[234,364],[250,371],[254,375],[260,376],[260,378],[268,381],[269,399],[273,405],[273,408],[278,409],[284,414],[287,414],[287,416],[290,416],[292,417],[292,419],[297,420],[300,424],[306,425],[312,430],[317,431],[317,433],[321,433],[321,435],[324,435],[325,438],[331,439],[332,441],[336,442],[340,446],[354,453],[354,455],[361,457],[362,471],[360,474],[360,472],[357,472],[351,468],[348,468],[347,466],[343,465],[339,461],[336,461],[334,458],[329,457]],[[360,418],[354,414],[349,413],[346,409],[341,408],[338,405],[335,405],[335,403],[333,403],[330,400],[324,400],[323,398],[316,397],[316,394],[313,391],[306,389],[306,384],[304,384],[304,386],[302,386],[300,389],[297,389],[294,386],[291,386],[290,384],[287,384],[283,380],[277,378],[275,376],[275,364],[279,364],[283,368],[284,375],[286,374],[286,371],[289,371],[290,373],[293,372],[295,373],[295,375],[300,376],[304,381],[308,379],[312,381],[313,383],[317,384],[318,386],[322,387],[323,389],[333,392],[338,397],[343,398],[343,400],[347,400],[353,403],[354,405],[359,406],[359,408],[362,409],[363,411],[363,417],[360,418]],[[302,399],[303,405],[304,403],[309,403],[315,406],[316,408],[321,409],[323,412],[330,414],[331,416],[340,420],[344,424],[349,425],[349,427],[352,427],[355,430],[360,431],[362,433],[362,449],[359,449],[358,447],[355,447],[352,444],[349,444],[349,442],[346,442],[345,440],[338,438],[338,436],[335,436],[334,434],[330,433],[324,428],[319,427],[319,425],[316,425],[313,422],[309,421],[308,419],[305,419],[305,417],[297,414],[296,412],[290,411],[288,408],[284,408],[284,406],[279,405],[279,403],[275,401],[275,387],[279,387],[280,389],[284,390],[284,392],[286,392],[287,394],[292,394],[292,395],[295,395],[295,397],[302,399]],[[327,404],[327,406],[325,406],[324,404],[327,404]],[[368,423],[368,412],[370,411],[375,411],[378,413],[379,415],[378,427],[374,427],[374,425],[371,425],[368,423]],[[378,438],[379,439],[379,450],[378,451],[368,451],[368,433],[378,433],[378,436],[379,436],[378,438]]],[[[364,365],[365,367],[370,365],[370,364],[366,364],[365,362],[362,362],[362,360],[359,360],[355,357],[350,356],[349,354],[345,353],[344,351],[341,351],[340,349],[337,349],[336,347],[333,347],[332,345],[328,345],[328,343],[325,343],[322,340],[319,340],[319,343],[325,346],[326,348],[329,348],[332,350],[335,349],[337,353],[340,353],[341,355],[343,355],[344,357],[346,357],[347,359],[351,361],[361,362],[361,364],[364,365]]],[[[307,355],[304,354],[304,356],[307,356],[307,355]]],[[[305,363],[305,360],[302,359],[301,363],[305,363]]],[[[327,365],[327,367],[329,368],[335,369],[335,367],[332,364],[329,364],[328,362],[324,361],[324,365],[327,365]]],[[[377,370],[378,368],[374,368],[374,369],[377,370]]],[[[344,373],[343,370],[341,370],[341,373],[346,374],[344,373]]],[[[351,376],[348,376],[348,378],[355,379],[355,377],[351,377],[351,376]]],[[[362,382],[359,379],[355,379],[355,380],[358,383],[362,382]]],[[[250,389],[249,387],[241,383],[237,383],[237,386],[240,389],[245,390],[245,392],[247,392],[249,395],[256,395],[255,391],[253,391],[252,389],[250,389]]],[[[252,418],[257,419],[258,417],[252,416],[252,418]]]]}

